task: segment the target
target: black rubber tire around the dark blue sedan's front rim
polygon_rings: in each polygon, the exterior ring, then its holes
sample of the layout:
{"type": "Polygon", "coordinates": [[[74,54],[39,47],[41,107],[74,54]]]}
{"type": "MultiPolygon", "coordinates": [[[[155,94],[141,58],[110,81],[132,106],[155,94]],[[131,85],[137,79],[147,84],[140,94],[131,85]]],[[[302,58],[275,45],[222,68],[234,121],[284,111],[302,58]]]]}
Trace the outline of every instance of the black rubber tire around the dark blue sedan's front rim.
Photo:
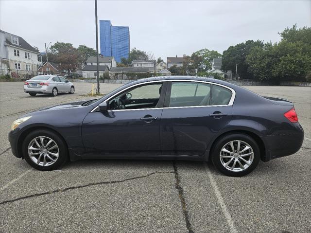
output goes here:
{"type": "Polygon", "coordinates": [[[62,166],[67,160],[68,160],[68,148],[66,146],[66,143],[63,141],[63,139],[55,134],[52,131],[46,130],[46,129],[38,129],[35,130],[27,135],[27,137],[24,139],[24,142],[22,144],[22,152],[24,159],[27,161],[29,165],[34,167],[37,170],[41,171],[52,171],[55,169],[58,169],[60,166],[62,166]],[[29,143],[35,139],[36,137],[43,136],[48,137],[52,139],[58,146],[59,153],[58,158],[54,163],[48,166],[38,165],[31,159],[31,157],[28,154],[28,145],[29,143]]]}

